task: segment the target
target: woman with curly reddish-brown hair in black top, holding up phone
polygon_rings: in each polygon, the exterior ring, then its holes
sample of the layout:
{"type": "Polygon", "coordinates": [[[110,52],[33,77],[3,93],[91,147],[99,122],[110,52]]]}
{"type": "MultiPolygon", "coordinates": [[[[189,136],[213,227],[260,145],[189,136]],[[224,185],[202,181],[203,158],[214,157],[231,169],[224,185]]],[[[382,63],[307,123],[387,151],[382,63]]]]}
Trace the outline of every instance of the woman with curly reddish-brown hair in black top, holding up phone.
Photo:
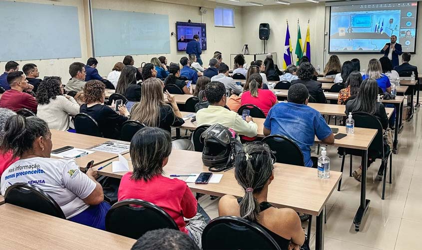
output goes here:
{"type": "Polygon", "coordinates": [[[104,90],[105,85],[99,80],[86,82],[83,89],[85,104],[80,106],[79,112],[92,116],[104,137],[118,139],[120,127],[128,119],[129,112],[124,105],[119,106],[119,113],[104,105],[104,90]]]}

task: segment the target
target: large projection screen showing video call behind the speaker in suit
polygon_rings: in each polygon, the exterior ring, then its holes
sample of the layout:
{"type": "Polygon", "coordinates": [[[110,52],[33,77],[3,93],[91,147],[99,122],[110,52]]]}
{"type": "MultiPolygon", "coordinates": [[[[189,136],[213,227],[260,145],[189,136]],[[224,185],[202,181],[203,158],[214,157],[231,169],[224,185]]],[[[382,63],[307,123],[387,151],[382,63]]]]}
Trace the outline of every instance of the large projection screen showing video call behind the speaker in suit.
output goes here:
{"type": "Polygon", "coordinates": [[[392,35],[415,52],[417,2],[331,6],[329,52],[379,52],[392,35]]]}

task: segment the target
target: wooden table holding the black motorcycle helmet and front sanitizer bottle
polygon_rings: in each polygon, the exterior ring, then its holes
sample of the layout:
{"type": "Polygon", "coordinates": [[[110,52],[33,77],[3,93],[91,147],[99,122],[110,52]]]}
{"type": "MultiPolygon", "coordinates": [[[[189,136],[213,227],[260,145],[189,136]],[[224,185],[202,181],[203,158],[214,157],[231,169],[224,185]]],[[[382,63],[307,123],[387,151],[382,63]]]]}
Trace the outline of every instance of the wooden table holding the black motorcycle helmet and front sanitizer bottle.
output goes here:
{"type": "MultiPolygon", "coordinates": [[[[203,165],[201,156],[201,152],[173,149],[164,167],[164,175],[169,177],[170,174],[208,172],[208,167],[203,165]]],[[[129,159],[130,155],[126,154],[124,157],[129,159]]],[[[132,170],[132,162],[130,160],[128,162],[132,170]]],[[[274,166],[274,180],[268,187],[268,201],[277,207],[290,207],[296,211],[317,216],[316,249],[323,249],[324,213],[322,211],[341,178],[341,172],[330,171],[330,178],[320,179],[315,168],[281,163],[275,163],[274,166]]],[[[195,192],[242,197],[244,191],[237,183],[233,169],[219,173],[223,174],[220,183],[187,184],[195,192]]],[[[106,166],[99,170],[98,174],[121,178],[125,172],[112,173],[111,166],[106,166]]]]}

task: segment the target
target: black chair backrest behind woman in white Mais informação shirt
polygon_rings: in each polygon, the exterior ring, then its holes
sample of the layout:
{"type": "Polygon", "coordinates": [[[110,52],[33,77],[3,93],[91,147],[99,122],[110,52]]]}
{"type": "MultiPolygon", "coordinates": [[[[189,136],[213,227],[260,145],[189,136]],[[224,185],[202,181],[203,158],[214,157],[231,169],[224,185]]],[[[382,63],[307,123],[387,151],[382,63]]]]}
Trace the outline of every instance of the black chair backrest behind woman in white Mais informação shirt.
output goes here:
{"type": "Polygon", "coordinates": [[[26,182],[17,182],[7,187],[4,202],[66,219],[60,206],[50,195],[26,182]]]}

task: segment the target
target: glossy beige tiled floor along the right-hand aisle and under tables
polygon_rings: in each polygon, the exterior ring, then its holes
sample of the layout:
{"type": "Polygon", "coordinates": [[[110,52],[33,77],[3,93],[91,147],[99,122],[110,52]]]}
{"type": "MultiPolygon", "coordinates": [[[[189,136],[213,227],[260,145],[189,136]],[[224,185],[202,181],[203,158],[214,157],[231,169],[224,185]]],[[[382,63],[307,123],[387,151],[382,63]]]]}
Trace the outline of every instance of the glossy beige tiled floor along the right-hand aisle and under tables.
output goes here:
{"type": "MultiPolygon", "coordinates": [[[[399,134],[398,154],[393,154],[393,183],[386,183],[386,197],[381,199],[382,181],[376,179],[380,165],[378,159],[368,169],[367,198],[370,208],[359,232],[353,218],[359,206],[360,182],[349,177],[349,157],[341,191],[333,192],[327,205],[325,224],[325,250],[422,249],[422,111],[417,109],[414,118],[403,121],[399,134]]],[[[337,148],[328,147],[331,169],[340,171],[341,158],[337,148]]],[[[360,157],[353,158],[353,168],[360,157]]],[[[205,195],[199,202],[211,218],[218,216],[218,200],[205,195]]],[[[315,221],[315,220],[314,220],[315,221]]],[[[307,227],[307,222],[303,223],[307,227]]],[[[311,235],[311,249],[315,249],[315,224],[311,235]]]]}

